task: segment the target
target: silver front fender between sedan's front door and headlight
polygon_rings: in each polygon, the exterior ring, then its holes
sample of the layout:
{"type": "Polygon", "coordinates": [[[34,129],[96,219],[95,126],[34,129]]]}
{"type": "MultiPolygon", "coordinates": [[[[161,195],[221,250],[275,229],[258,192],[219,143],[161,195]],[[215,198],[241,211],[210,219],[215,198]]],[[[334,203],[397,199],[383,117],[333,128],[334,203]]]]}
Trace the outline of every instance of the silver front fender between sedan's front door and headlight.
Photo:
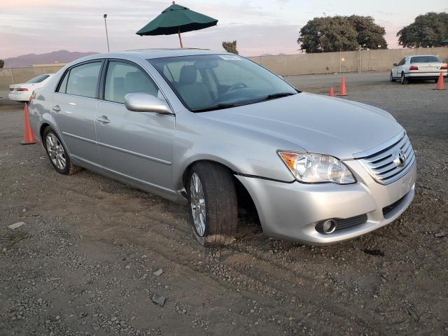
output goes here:
{"type": "Polygon", "coordinates": [[[277,151],[304,151],[288,141],[242,127],[229,127],[216,120],[197,118],[195,113],[176,116],[173,150],[173,184],[183,188],[183,173],[194,162],[209,160],[235,173],[291,182],[294,177],[277,151]]]}

